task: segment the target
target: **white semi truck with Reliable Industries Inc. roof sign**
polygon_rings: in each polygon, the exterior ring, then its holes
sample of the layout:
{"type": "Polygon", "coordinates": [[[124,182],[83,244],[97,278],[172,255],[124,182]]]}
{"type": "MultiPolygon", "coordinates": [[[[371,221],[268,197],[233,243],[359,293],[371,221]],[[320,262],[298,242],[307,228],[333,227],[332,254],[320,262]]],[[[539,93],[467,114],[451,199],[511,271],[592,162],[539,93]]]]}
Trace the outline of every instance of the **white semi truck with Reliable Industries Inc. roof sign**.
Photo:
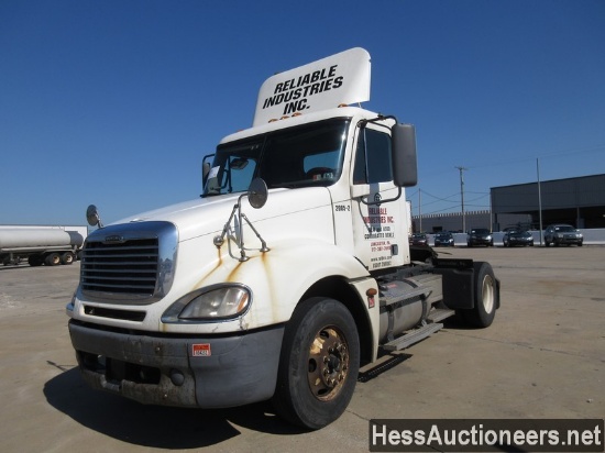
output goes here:
{"type": "Polygon", "coordinates": [[[201,198],[87,237],[66,311],[90,386],[179,407],[272,399],[319,429],[360,367],[450,316],[492,323],[490,264],[408,244],[415,129],[349,107],[370,66],[353,48],[268,78],[253,126],[204,159],[201,198]]]}

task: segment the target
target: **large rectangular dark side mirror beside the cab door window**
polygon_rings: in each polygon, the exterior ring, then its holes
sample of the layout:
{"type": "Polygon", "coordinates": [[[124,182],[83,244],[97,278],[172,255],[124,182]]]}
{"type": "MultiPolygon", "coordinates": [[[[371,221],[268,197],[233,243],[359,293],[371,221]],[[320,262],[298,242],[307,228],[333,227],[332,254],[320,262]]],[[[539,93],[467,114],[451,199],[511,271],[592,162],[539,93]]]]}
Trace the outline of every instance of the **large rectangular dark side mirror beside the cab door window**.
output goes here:
{"type": "Polygon", "coordinates": [[[416,129],[411,124],[395,124],[392,130],[393,181],[397,187],[418,184],[416,129]]]}

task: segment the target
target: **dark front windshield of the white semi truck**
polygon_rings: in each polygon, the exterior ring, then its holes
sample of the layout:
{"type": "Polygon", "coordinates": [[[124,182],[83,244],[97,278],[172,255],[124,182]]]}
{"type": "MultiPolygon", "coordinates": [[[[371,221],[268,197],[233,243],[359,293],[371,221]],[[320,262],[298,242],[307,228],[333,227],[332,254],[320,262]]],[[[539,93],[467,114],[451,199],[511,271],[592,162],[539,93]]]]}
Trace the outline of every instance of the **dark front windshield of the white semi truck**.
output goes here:
{"type": "Polygon", "coordinates": [[[330,186],[342,173],[348,125],[331,120],[220,145],[204,195],[245,191],[256,177],[270,189],[330,186]]]}

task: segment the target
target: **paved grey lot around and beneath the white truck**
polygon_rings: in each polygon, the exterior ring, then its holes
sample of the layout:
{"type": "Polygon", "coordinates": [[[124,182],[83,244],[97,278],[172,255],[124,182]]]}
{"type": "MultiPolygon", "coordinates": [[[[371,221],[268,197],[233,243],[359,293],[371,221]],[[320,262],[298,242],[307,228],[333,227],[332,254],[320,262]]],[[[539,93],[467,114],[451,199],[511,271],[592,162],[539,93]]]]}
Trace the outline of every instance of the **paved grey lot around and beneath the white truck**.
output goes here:
{"type": "Polygon", "coordinates": [[[80,379],[65,305],[72,266],[0,267],[0,452],[362,452],[371,419],[605,417],[605,247],[453,248],[502,283],[492,327],[455,321],[358,383],[344,415],[305,432],[267,404],[143,406],[80,379]]]}

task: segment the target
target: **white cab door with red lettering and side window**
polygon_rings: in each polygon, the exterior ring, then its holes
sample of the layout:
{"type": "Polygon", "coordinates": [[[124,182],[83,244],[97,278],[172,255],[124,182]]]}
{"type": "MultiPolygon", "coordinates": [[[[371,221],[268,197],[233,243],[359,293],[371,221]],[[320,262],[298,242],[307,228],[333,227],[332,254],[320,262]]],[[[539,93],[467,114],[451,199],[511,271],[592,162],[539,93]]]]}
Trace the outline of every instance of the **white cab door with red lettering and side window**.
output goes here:
{"type": "Polygon", "coordinates": [[[405,191],[393,183],[391,128],[366,123],[356,131],[351,181],[355,256],[369,270],[409,263],[405,191]]]}

